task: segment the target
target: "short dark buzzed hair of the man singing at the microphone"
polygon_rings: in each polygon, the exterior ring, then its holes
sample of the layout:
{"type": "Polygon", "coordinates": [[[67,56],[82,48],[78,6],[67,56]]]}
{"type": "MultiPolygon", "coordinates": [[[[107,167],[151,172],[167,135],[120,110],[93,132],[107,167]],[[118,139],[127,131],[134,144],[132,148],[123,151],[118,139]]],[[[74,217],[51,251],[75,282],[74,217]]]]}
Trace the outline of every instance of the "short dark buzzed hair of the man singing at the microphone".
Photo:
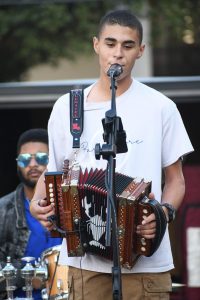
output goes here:
{"type": "Polygon", "coordinates": [[[136,29],[139,35],[140,44],[143,39],[143,27],[139,19],[129,10],[113,10],[103,16],[99,22],[98,37],[101,35],[105,25],[115,25],[136,29]]]}

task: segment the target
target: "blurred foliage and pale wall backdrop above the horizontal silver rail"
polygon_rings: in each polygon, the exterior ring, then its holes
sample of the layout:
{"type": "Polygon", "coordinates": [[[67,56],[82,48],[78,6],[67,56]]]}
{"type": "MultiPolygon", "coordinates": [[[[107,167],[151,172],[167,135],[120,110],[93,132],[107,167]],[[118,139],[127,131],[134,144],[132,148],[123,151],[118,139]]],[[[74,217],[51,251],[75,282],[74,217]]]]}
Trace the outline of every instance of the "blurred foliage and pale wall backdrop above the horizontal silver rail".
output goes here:
{"type": "Polygon", "coordinates": [[[115,8],[143,23],[138,76],[199,75],[198,0],[1,0],[0,82],[97,77],[92,37],[115,8]]]}

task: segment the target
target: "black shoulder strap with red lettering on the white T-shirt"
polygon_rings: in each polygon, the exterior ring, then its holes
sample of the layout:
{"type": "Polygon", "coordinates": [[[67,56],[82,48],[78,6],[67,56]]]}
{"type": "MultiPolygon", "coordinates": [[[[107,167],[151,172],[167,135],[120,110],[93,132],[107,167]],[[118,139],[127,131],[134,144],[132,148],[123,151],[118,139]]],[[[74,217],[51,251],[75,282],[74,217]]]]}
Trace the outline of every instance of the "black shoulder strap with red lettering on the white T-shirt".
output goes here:
{"type": "Polygon", "coordinates": [[[82,89],[70,91],[70,131],[73,136],[73,148],[80,148],[83,132],[84,94],[82,89]]]}

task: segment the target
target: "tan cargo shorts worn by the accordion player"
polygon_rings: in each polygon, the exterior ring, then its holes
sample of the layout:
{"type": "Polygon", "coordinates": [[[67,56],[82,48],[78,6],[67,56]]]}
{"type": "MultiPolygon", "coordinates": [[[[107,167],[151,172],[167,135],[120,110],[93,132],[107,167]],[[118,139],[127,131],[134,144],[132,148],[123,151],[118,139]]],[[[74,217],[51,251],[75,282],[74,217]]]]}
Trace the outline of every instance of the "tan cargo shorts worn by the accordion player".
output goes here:
{"type": "MultiPolygon", "coordinates": [[[[169,300],[170,272],[122,274],[123,300],[169,300]]],[[[112,276],[69,267],[69,300],[112,300],[112,276]]]]}

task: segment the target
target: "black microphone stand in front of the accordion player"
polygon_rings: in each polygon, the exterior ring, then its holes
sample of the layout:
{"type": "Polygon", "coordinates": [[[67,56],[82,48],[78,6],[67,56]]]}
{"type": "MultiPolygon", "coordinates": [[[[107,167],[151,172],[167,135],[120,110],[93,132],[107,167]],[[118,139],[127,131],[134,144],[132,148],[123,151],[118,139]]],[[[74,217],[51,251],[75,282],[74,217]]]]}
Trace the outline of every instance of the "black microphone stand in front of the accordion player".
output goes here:
{"type": "MultiPolygon", "coordinates": [[[[117,75],[118,76],[118,75],[117,75]]],[[[110,75],[111,78],[111,109],[105,113],[105,119],[102,120],[104,127],[103,138],[106,144],[102,147],[100,144],[95,145],[95,157],[108,161],[105,175],[107,188],[107,219],[106,219],[106,246],[110,246],[112,232],[112,248],[113,248],[113,267],[112,267],[112,284],[113,284],[113,299],[122,299],[122,282],[121,282],[121,267],[119,259],[119,242],[118,242],[118,227],[116,213],[116,192],[115,192],[115,167],[116,154],[127,152],[126,134],[123,131],[121,119],[116,115],[116,84],[114,72],[110,75]]]]}

